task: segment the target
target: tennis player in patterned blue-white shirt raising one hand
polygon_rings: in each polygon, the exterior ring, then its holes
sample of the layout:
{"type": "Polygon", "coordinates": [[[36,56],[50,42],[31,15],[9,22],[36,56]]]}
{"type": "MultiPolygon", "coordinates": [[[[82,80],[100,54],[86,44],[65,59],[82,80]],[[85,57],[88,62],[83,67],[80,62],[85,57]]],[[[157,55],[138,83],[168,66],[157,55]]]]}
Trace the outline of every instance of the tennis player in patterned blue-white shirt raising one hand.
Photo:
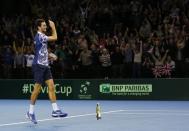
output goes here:
{"type": "Polygon", "coordinates": [[[47,25],[45,20],[36,20],[37,34],[34,38],[35,58],[32,64],[35,85],[30,98],[31,103],[29,106],[29,111],[27,112],[27,117],[34,124],[37,124],[34,113],[34,105],[43,84],[46,84],[48,86],[49,99],[52,103],[53,108],[52,117],[66,117],[68,115],[67,113],[63,113],[56,103],[54,81],[52,78],[51,70],[49,68],[47,43],[50,41],[56,41],[57,33],[53,21],[49,20],[49,26],[52,30],[52,34],[51,36],[46,36],[45,33],[47,30],[47,25]]]}

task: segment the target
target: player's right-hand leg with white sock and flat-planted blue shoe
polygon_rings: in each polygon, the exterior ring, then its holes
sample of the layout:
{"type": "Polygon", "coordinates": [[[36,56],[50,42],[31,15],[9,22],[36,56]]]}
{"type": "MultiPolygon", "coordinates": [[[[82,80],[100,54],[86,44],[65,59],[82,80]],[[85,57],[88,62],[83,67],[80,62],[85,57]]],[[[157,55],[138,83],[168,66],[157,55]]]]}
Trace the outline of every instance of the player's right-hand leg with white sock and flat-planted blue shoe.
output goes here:
{"type": "Polygon", "coordinates": [[[54,81],[52,79],[52,74],[49,68],[45,71],[45,80],[46,80],[45,83],[48,86],[49,99],[52,103],[52,108],[53,108],[52,116],[53,117],[66,117],[67,113],[63,113],[59,109],[56,103],[55,86],[54,86],[54,81]]]}

